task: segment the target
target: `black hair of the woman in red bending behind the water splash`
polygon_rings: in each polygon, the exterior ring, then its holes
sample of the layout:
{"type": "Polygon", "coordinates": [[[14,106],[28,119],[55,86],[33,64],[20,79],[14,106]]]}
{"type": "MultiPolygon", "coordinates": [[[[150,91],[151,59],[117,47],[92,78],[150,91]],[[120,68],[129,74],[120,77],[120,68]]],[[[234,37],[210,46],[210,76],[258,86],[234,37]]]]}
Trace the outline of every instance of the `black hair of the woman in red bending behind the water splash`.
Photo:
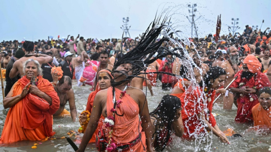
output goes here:
{"type": "MultiPolygon", "coordinates": [[[[211,88],[211,79],[215,80],[216,78],[218,78],[220,75],[226,75],[226,71],[219,67],[219,66],[213,66],[209,69],[209,71],[207,72],[206,76],[204,76],[203,80],[204,80],[204,87],[207,87],[207,91],[209,92],[210,88],[211,88]]],[[[203,86],[203,83],[200,83],[200,86],[203,86]]]]}

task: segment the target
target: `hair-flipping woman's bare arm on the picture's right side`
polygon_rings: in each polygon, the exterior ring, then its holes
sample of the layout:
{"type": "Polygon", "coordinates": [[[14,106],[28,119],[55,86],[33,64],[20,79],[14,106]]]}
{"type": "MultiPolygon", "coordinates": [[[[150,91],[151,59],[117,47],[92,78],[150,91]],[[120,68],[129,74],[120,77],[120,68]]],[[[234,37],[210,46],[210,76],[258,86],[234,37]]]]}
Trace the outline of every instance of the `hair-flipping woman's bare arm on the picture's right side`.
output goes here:
{"type": "Polygon", "coordinates": [[[152,152],[152,135],[153,135],[153,129],[151,125],[151,118],[149,116],[149,108],[148,108],[148,102],[147,99],[145,101],[145,94],[141,90],[138,91],[139,93],[139,114],[141,114],[141,121],[142,121],[142,127],[143,131],[146,134],[146,145],[147,145],[147,151],[152,152]]]}

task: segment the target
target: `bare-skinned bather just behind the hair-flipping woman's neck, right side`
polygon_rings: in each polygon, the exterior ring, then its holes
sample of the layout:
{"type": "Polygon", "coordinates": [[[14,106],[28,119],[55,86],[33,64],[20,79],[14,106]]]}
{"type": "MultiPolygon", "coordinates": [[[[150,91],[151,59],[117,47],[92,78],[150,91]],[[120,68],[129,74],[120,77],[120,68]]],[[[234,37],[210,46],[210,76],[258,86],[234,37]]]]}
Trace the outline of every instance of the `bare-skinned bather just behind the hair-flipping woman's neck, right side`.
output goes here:
{"type": "MultiPolygon", "coordinates": [[[[141,71],[141,72],[143,72],[143,71],[141,71]]],[[[131,87],[143,90],[143,82],[147,81],[147,85],[146,86],[148,87],[149,91],[151,92],[151,96],[153,96],[151,84],[150,84],[149,80],[145,79],[146,77],[148,79],[147,74],[146,75],[145,74],[139,74],[138,76],[141,76],[142,78],[134,77],[132,79],[132,81],[130,82],[131,87]]]]}

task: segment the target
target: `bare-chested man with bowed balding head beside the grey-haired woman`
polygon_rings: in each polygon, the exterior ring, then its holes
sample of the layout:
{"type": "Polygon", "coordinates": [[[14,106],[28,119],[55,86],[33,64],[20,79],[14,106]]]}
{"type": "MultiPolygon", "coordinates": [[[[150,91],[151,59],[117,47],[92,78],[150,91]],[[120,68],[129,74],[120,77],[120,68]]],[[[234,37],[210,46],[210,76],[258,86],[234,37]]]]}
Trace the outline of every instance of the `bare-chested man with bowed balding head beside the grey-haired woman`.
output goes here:
{"type": "Polygon", "coordinates": [[[72,90],[72,79],[69,76],[62,76],[62,78],[58,81],[58,76],[54,73],[55,71],[52,72],[52,85],[54,87],[54,90],[57,92],[60,100],[60,107],[56,111],[56,113],[54,113],[54,115],[60,115],[65,109],[65,105],[67,104],[67,102],[69,102],[70,116],[72,117],[72,121],[75,122],[77,114],[74,100],[74,92],[72,90]]]}

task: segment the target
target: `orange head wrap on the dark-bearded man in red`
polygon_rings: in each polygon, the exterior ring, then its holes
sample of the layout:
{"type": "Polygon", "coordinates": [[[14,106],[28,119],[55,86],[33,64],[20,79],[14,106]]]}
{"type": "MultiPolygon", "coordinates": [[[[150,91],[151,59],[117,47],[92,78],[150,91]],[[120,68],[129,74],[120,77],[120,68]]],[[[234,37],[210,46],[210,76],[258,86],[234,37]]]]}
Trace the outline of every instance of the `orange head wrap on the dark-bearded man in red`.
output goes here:
{"type": "Polygon", "coordinates": [[[249,54],[244,59],[244,64],[247,64],[248,70],[251,73],[257,73],[262,69],[262,64],[259,62],[258,58],[255,55],[249,54]]]}

